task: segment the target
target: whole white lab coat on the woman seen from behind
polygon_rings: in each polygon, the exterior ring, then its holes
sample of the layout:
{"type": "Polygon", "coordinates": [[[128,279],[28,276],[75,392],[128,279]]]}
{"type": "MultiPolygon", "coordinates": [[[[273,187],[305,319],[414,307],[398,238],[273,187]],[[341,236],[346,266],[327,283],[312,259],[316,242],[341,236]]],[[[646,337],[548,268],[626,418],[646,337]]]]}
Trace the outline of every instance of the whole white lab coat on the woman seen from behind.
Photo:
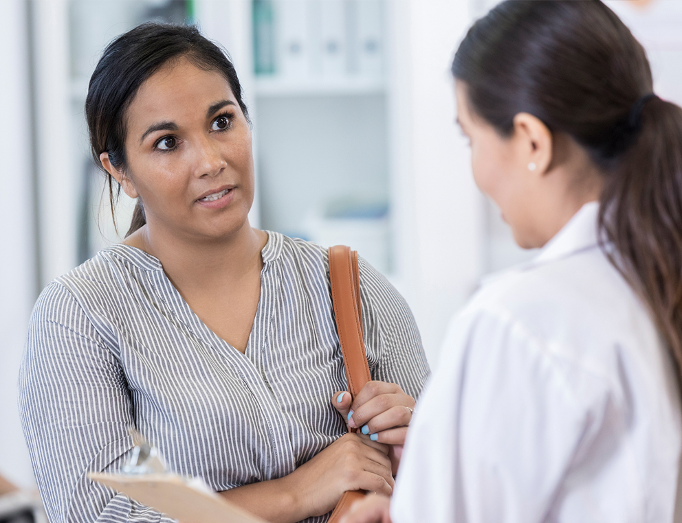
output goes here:
{"type": "Polygon", "coordinates": [[[410,424],[394,523],[672,522],[672,363],[586,205],[455,319],[410,424]]]}

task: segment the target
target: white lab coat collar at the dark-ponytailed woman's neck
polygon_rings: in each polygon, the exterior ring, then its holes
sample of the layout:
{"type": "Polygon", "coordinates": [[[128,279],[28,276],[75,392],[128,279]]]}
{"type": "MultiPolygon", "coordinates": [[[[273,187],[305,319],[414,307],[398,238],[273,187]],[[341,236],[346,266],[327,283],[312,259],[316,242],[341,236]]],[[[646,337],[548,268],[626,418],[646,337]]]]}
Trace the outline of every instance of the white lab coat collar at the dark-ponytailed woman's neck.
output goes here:
{"type": "Polygon", "coordinates": [[[599,202],[587,202],[562,229],[542,247],[540,254],[523,268],[533,268],[599,245],[599,202]]]}

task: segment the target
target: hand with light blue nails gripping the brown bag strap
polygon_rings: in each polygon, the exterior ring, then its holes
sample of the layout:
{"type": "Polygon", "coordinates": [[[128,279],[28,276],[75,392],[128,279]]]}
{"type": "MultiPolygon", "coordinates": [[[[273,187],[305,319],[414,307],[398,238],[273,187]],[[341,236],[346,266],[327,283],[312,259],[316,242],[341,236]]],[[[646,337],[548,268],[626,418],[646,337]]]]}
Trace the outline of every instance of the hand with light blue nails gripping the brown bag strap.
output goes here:
{"type": "Polygon", "coordinates": [[[360,428],[364,434],[370,435],[372,441],[391,445],[388,456],[395,476],[415,399],[395,383],[368,382],[352,404],[351,395],[345,392],[333,395],[332,404],[347,420],[349,427],[360,428]]]}

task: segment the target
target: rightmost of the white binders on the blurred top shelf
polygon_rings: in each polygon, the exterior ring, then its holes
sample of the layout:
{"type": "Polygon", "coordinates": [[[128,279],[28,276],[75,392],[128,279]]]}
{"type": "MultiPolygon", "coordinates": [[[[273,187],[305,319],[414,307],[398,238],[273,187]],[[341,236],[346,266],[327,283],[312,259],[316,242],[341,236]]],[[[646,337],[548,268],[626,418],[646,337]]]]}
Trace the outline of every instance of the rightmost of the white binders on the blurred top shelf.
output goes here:
{"type": "Polygon", "coordinates": [[[358,40],[358,74],[363,78],[380,78],[384,72],[384,38],[382,32],[382,0],[358,0],[355,2],[355,24],[358,40]]]}

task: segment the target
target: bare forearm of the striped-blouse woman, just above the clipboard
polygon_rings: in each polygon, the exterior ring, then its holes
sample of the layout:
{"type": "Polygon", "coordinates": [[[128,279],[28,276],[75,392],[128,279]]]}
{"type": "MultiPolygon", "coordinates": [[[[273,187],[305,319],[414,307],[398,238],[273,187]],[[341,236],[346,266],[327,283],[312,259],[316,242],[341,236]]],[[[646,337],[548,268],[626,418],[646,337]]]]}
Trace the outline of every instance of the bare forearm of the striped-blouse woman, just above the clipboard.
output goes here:
{"type": "Polygon", "coordinates": [[[299,496],[292,474],[221,492],[239,507],[272,523],[295,523],[312,514],[299,496]],[[266,502],[267,501],[267,502],[266,502]]]}

